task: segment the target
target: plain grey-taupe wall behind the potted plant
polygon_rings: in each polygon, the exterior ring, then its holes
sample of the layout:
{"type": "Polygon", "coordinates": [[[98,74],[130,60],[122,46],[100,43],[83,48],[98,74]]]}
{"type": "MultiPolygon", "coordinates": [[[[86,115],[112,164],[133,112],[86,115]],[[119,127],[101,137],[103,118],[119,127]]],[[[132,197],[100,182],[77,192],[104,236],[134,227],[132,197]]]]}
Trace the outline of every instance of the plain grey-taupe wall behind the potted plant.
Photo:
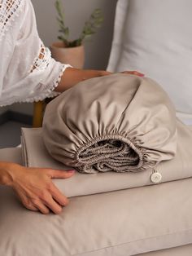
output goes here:
{"type": "MultiPolygon", "coordinates": [[[[58,24],[56,20],[55,0],[32,0],[37,16],[37,29],[46,46],[57,41],[58,24]]],[[[103,27],[94,35],[91,42],[85,43],[85,68],[106,69],[111,50],[113,20],[116,0],[63,0],[66,24],[72,38],[81,32],[85,20],[96,7],[104,13],[103,27]]],[[[33,104],[13,104],[11,110],[20,113],[33,113],[33,104]]]]}

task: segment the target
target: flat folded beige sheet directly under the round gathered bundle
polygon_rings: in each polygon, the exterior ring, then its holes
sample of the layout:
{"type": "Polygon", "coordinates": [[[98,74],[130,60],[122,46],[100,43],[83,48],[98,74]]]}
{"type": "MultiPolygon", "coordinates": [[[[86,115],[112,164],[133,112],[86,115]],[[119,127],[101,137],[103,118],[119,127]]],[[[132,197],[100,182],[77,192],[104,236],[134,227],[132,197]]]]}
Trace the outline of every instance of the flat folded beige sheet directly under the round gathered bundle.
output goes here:
{"type": "MultiPolygon", "coordinates": [[[[161,183],[192,176],[190,152],[192,130],[180,121],[177,121],[177,138],[176,157],[170,161],[161,162],[157,167],[162,175],[161,183]]],[[[71,169],[63,166],[59,161],[55,161],[46,151],[41,128],[22,129],[22,151],[25,166],[71,169]]],[[[58,183],[64,184],[63,192],[67,196],[83,196],[154,184],[151,182],[151,169],[137,173],[81,174],[76,172],[71,179],[59,180],[58,183]]]]}

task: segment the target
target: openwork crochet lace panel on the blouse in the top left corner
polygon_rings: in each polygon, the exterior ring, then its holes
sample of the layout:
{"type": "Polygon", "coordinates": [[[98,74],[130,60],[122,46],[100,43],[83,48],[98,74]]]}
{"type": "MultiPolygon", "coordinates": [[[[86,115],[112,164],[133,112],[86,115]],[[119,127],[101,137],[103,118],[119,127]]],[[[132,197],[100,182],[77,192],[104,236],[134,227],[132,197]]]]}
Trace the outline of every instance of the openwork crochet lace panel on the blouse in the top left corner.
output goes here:
{"type": "Polygon", "coordinates": [[[15,18],[20,15],[24,0],[0,0],[0,41],[15,18]]]}

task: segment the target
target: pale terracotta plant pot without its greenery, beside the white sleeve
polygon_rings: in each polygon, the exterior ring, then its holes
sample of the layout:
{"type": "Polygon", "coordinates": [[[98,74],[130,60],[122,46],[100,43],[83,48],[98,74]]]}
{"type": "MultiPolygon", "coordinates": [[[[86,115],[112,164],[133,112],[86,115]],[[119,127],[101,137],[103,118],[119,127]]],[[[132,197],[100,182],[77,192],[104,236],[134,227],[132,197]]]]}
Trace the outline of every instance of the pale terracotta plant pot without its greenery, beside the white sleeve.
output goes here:
{"type": "Polygon", "coordinates": [[[63,64],[71,64],[73,68],[83,68],[84,66],[84,46],[65,47],[63,42],[54,42],[50,46],[50,51],[52,57],[63,64]]]}

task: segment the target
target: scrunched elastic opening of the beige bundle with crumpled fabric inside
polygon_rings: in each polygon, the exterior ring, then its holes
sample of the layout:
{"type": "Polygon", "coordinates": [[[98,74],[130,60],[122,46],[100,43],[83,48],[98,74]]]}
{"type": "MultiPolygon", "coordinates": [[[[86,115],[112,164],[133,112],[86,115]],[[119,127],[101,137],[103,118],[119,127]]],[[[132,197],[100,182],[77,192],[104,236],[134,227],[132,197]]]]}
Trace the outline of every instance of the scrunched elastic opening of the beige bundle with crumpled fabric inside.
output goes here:
{"type": "Polygon", "coordinates": [[[144,148],[138,148],[121,135],[106,135],[93,139],[79,148],[76,160],[76,168],[82,173],[137,172],[155,166],[154,161],[146,161],[144,148]]]}

